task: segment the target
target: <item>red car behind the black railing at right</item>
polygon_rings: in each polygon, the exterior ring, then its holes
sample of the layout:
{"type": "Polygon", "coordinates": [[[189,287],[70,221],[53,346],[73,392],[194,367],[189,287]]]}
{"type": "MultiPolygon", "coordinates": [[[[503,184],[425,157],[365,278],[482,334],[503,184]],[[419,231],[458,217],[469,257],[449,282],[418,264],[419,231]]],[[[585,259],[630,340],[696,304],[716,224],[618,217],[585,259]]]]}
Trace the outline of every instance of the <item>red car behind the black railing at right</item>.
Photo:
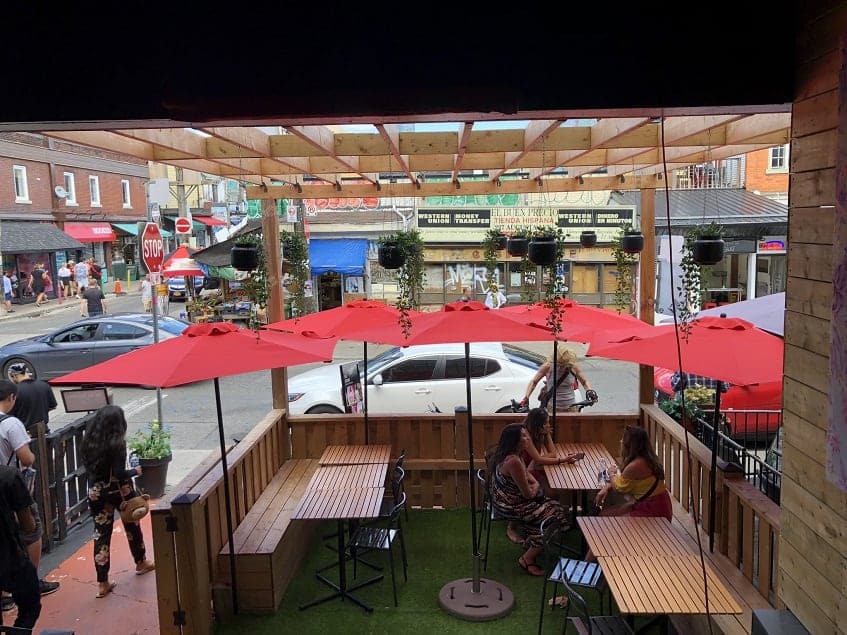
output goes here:
{"type": "MultiPolygon", "coordinates": [[[[656,401],[661,403],[673,399],[676,371],[656,368],[653,382],[656,401]]],[[[700,385],[714,388],[717,382],[709,377],[687,374],[688,386],[700,385]]],[[[765,442],[776,434],[782,422],[782,382],[766,382],[749,386],[725,384],[721,393],[721,413],[724,415],[729,434],[737,440],[765,442]]]]}

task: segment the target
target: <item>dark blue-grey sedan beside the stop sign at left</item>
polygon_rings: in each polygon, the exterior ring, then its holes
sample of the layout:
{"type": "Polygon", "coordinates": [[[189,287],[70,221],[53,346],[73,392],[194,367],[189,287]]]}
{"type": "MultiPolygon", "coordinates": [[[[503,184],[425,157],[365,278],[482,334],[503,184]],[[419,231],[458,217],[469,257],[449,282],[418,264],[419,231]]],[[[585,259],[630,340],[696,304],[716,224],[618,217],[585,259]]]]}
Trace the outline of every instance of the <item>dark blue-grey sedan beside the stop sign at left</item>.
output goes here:
{"type": "MultiPolygon", "coordinates": [[[[161,341],[179,335],[188,323],[160,316],[158,326],[161,341]]],[[[34,377],[48,380],[153,342],[150,313],[98,315],[0,347],[0,368],[9,377],[12,364],[24,363],[34,377]]]]}

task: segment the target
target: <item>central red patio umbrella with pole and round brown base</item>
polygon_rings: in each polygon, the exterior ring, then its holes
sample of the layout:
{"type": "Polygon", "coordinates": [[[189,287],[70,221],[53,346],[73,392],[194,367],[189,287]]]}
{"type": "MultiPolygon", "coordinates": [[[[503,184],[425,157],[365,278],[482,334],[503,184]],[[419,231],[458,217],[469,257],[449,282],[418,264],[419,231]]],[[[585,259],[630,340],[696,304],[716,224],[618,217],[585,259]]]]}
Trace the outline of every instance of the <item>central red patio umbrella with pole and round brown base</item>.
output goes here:
{"type": "MultiPolygon", "coordinates": [[[[465,391],[468,410],[468,463],[471,478],[471,540],[473,543],[474,575],[447,583],[439,594],[439,603],[454,615],[469,616],[477,614],[477,609],[486,603],[491,606],[503,606],[504,598],[514,596],[511,591],[493,580],[481,584],[479,577],[479,542],[476,532],[476,487],[474,475],[473,409],[471,407],[471,342],[537,342],[553,340],[550,329],[543,326],[522,324],[518,320],[493,311],[481,302],[453,302],[435,313],[421,313],[412,318],[412,327],[406,337],[396,323],[388,326],[371,327],[348,334],[351,339],[362,339],[400,346],[413,344],[443,344],[462,342],[465,345],[465,391]]],[[[501,609],[502,610],[502,609],[501,609]]],[[[502,614],[502,613],[501,613],[502,614]]]]}

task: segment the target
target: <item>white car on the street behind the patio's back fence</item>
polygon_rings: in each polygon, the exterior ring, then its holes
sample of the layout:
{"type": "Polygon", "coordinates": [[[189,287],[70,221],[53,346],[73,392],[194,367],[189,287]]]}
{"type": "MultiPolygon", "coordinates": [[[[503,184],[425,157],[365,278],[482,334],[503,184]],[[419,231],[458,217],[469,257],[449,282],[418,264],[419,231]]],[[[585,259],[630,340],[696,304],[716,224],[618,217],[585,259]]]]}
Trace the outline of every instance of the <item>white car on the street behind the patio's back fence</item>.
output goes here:
{"type": "MultiPolygon", "coordinates": [[[[511,412],[544,356],[511,344],[470,347],[475,413],[511,412]]],[[[341,364],[315,368],[288,382],[291,414],[342,413],[341,364]]],[[[362,361],[359,360],[360,375],[362,361]]],[[[536,386],[530,403],[538,404],[536,386]]],[[[368,412],[453,412],[466,404],[464,344],[394,347],[368,360],[368,412]]]]}

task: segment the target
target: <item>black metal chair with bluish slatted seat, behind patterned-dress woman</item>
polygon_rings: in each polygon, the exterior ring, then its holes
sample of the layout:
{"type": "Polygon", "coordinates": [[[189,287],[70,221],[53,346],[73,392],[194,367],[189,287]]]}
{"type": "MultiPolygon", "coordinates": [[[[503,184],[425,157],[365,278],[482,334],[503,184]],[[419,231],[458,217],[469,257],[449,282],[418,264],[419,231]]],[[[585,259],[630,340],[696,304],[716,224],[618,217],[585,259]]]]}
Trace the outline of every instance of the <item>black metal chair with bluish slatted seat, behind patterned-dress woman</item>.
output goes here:
{"type": "MultiPolygon", "coordinates": [[[[603,599],[606,595],[606,580],[603,577],[603,570],[596,562],[587,562],[586,560],[576,560],[574,558],[565,558],[562,554],[569,551],[569,548],[564,544],[565,527],[557,518],[548,518],[541,523],[541,533],[544,537],[544,552],[548,562],[550,562],[549,572],[544,578],[544,585],[541,589],[541,612],[538,616],[538,632],[541,633],[541,627],[544,622],[544,604],[547,601],[547,583],[553,583],[553,599],[551,605],[553,608],[557,606],[557,590],[559,584],[570,584],[585,589],[596,591],[600,598],[600,610],[603,610],[603,599]]],[[[609,596],[609,611],[612,610],[612,599],[609,596]]],[[[605,631],[604,631],[605,632],[605,631]]]]}

